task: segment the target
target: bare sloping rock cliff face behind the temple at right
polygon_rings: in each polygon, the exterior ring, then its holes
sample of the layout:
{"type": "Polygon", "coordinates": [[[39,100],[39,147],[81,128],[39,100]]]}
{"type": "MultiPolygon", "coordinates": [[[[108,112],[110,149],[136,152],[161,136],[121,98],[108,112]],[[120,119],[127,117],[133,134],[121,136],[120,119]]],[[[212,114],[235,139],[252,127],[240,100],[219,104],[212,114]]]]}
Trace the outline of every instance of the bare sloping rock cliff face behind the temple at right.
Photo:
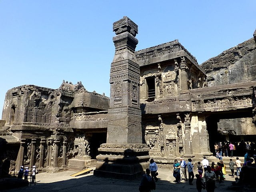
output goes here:
{"type": "Polygon", "coordinates": [[[256,42],[251,38],[203,62],[208,86],[256,80],[256,42]]]}

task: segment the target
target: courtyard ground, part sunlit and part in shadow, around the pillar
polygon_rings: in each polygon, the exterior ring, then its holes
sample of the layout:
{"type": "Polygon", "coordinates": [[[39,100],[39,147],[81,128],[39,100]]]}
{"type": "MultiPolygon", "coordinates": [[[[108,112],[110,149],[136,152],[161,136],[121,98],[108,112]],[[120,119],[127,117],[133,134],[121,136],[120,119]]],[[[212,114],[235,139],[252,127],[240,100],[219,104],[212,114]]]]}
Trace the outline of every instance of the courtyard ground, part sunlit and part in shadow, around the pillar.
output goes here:
{"type": "MultiPolygon", "coordinates": [[[[182,191],[182,192],[196,192],[196,180],[194,185],[189,185],[188,182],[182,181],[180,184],[174,183],[174,177],[168,169],[158,170],[158,182],[156,182],[155,192],[164,191],[182,191]]],[[[116,180],[111,178],[99,178],[93,176],[93,172],[84,176],[71,177],[74,171],[66,171],[59,173],[40,173],[36,175],[36,185],[16,188],[11,190],[4,190],[4,192],[137,192],[140,184],[139,180],[127,181],[116,180]]],[[[217,188],[215,192],[233,191],[228,187],[234,178],[226,175],[226,180],[223,183],[216,182],[217,188]]],[[[203,190],[206,192],[206,190],[203,190]]],[[[234,192],[234,191],[233,191],[234,192]]]]}

